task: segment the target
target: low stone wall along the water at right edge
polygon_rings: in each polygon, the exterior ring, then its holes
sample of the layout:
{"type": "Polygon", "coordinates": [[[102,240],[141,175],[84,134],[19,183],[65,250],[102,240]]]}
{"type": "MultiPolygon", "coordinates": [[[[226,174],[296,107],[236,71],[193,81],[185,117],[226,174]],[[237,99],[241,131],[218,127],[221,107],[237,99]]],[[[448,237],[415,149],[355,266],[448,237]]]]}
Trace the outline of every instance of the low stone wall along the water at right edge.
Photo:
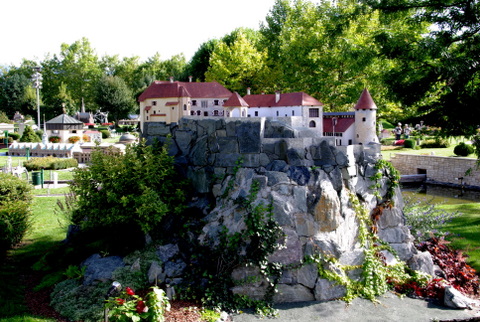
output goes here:
{"type": "Polygon", "coordinates": [[[459,184],[460,181],[456,178],[463,177],[465,185],[477,187],[480,183],[478,170],[465,176],[468,169],[475,169],[475,159],[396,153],[391,162],[402,175],[426,174],[427,180],[451,184],[459,184]]]}

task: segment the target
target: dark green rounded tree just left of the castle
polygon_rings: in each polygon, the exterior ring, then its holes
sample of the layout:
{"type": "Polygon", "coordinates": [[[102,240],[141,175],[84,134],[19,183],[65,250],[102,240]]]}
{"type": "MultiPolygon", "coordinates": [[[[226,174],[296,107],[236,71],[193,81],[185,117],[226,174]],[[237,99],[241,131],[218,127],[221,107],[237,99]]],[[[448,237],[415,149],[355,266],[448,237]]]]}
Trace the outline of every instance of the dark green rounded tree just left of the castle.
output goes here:
{"type": "Polygon", "coordinates": [[[98,82],[95,102],[102,110],[109,112],[116,124],[127,118],[134,108],[132,91],[125,81],[117,76],[104,76],[98,82]]]}

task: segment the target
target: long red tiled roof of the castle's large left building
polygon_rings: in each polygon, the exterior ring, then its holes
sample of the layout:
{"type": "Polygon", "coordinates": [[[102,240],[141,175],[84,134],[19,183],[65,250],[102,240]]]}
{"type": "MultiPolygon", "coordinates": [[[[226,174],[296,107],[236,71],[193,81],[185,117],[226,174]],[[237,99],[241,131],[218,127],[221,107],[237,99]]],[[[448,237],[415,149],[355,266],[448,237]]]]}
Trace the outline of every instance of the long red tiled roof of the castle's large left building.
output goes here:
{"type": "Polygon", "coordinates": [[[192,97],[192,98],[229,98],[228,89],[217,82],[164,82],[155,81],[138,98],[142,102],[148,98],[192,97]]]}

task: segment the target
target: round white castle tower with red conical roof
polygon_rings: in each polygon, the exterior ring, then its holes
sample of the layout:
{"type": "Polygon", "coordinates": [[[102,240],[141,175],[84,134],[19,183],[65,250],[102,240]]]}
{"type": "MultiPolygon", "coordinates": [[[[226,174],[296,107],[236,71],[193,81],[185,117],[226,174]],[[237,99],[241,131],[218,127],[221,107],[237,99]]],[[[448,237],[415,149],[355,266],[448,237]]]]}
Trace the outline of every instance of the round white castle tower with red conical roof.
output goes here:
{"type": "Polygon", "coordinates": [[[379,143],[377,137],[377,105],[365,88],[354,107],[355,138],[354,144],[379,143]]]}

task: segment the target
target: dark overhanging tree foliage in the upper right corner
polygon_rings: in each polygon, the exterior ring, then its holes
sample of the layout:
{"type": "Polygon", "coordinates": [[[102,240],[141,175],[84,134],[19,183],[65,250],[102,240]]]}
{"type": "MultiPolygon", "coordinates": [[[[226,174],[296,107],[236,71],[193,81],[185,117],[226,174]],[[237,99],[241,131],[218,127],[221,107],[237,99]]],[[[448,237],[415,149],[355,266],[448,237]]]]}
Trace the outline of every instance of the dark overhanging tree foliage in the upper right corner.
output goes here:
{"type": "Polygon", "coordinates": [[[447,134],[473,135],[480,117],[480,6],[477,0],[364,0],[393,19],[433,27],[408,44],[379,32],[384,55],[398,67],[389,75],[398,99],[415,105],[447,134]],[[394,50],[392,50],[392,48],[394,50]],[[401,50],[400,50],[401,49],[401,50]]]}

